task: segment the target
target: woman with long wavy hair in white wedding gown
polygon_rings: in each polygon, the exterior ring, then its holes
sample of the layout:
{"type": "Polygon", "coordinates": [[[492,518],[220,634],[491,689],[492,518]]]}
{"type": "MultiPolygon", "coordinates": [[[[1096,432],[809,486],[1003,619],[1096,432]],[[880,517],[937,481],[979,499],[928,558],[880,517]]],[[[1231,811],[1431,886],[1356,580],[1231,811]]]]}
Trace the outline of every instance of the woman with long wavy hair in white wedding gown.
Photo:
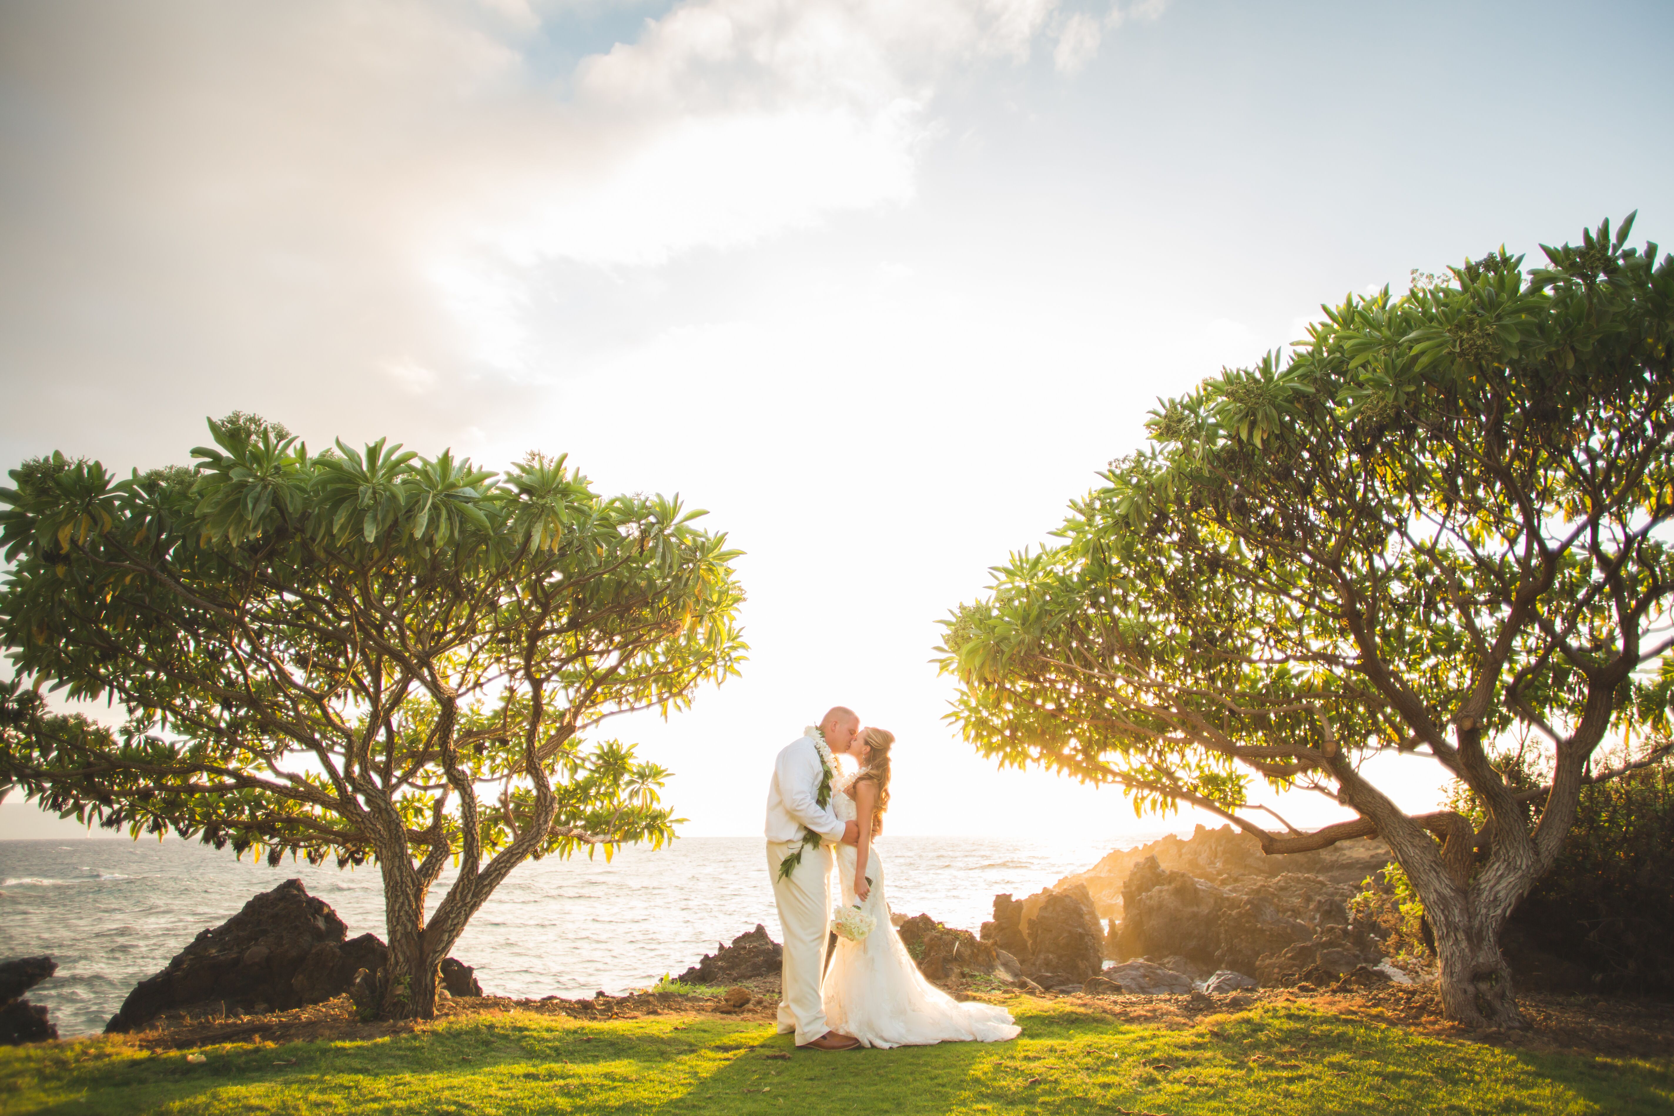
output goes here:
{"type": "Polygon", "coordinates": [[[1021,1027],[993,1004],[961,1004],[919,974],[919,967],[889,922],[884,902],[884,858],[872,845],[889,810],[889,750],[894,735],[881,728],[857,733],[849,755],[860,771],[839,781],[832,808],[842,822],[859,822],[857,845],[837,845],[837,878],[844,907],[860,905],[872,932],[857,942],[839,937],[822,994],[834,1031],[865,1046],[929,1046],[932,1042],[1001,1042],[1021,1027]]]}

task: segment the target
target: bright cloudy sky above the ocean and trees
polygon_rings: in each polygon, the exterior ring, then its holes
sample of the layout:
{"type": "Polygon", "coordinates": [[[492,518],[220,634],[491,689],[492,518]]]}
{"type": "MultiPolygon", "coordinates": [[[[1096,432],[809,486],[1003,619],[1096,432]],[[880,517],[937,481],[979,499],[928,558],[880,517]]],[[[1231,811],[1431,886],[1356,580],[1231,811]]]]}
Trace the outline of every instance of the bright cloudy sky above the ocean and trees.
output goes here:
{"type": "Polygon", "coordinates": [[[747,552],[743,678],[604,728],[683,833],[757,833],[834,703],[897,735],[891,832],[1190,827],[976,756],[936,621],[1321,303],[1674,241],[1671,47],[1610,0],[8,0],[0,462],[187,463],[231,410],[566,452],[747,552]]]}

